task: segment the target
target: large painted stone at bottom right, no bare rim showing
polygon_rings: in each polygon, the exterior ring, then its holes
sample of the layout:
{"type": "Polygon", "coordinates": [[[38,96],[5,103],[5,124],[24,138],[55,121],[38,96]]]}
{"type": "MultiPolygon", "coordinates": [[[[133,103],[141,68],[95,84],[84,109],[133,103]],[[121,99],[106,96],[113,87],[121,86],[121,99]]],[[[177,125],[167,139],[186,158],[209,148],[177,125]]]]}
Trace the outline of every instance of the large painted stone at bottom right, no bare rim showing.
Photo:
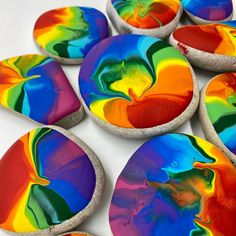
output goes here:
{"type": "Polygon", "coordinates": [[[212,144],[184,134],[156,137],[116,182],[113,235],[234,235],[235,188],[235,167],[212,144]]]}

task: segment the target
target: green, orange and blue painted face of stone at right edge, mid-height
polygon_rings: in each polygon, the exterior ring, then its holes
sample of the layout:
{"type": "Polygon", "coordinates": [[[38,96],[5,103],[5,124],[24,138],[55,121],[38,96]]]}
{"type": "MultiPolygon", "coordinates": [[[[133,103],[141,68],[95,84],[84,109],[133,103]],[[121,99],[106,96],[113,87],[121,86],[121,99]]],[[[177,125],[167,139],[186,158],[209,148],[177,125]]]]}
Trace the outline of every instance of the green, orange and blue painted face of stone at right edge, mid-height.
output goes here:
{"type": "Polygon", "coordinates": [[[223,144],[236,155],[236,73],[216,76],[207,86],[209,119],[223,144]]]}

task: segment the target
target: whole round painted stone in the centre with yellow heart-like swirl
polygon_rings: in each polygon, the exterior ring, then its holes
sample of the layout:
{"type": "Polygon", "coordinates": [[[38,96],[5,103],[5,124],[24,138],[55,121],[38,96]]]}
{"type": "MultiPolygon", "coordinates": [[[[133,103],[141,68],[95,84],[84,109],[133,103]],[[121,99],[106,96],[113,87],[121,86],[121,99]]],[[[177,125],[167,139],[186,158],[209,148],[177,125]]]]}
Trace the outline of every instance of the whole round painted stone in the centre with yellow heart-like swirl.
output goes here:
{"type": "Polygon", "coordinates": [[[119,35],[96,45],[79,75],[80,96],[95,122],[129,138],[168,132],[188,120],[198,88],[188,61],[166,42],[119,35]]]}

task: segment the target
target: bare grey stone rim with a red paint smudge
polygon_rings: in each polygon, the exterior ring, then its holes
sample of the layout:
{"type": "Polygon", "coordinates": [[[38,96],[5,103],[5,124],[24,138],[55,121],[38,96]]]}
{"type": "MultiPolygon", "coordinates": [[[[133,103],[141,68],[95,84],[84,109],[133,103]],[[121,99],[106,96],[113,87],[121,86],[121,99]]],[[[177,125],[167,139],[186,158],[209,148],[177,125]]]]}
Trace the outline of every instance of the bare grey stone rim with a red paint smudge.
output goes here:
{"type": "Polygon", "coordinates": [[[173,34],[169,38],[172,46],[178,49],[191,64],[214,72],[236,71],[236,57],[204,52],[177,41],[173,34]]]}

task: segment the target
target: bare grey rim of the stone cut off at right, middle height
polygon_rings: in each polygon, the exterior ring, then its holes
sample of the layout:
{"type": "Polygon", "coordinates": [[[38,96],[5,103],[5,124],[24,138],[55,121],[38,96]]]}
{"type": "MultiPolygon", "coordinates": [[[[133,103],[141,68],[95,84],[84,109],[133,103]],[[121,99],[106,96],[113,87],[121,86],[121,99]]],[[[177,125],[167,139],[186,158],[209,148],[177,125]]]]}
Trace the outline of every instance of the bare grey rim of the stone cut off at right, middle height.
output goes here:
{"type": "Polygon", "coordinates": [[[216,133],[214,126],[212,125],[209,115],[207,113],[205,105],[205,95],[208,85],[211,83],[212,80],[214,80],[214,78],[215,77],[213,77],[201,90],[198,110],[199,120],[207,140],[215,144],[219,149],[221,149],[225,153],[225,155],[230,159],[230,161],[233,162],[233,164],[236,166],[236,156],[223,144],[218,134],[216,133]]]}

